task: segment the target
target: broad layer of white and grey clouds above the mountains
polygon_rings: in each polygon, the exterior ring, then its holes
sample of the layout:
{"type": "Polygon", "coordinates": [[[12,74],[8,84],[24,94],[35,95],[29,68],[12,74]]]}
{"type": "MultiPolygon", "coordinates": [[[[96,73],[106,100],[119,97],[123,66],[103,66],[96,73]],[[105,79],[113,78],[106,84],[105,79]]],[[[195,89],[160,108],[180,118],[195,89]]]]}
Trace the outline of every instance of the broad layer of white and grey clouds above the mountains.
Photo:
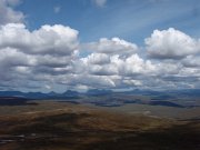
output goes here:
{"type": "Polygon", "coordinates": [[[23,23],[2,24],[0,87],[200,88],[199,39],[170,28],[154,30],[144,43],[140,48],[120,38],[80,43],[79,31],[61,24],[33,31],[23,23]]]}

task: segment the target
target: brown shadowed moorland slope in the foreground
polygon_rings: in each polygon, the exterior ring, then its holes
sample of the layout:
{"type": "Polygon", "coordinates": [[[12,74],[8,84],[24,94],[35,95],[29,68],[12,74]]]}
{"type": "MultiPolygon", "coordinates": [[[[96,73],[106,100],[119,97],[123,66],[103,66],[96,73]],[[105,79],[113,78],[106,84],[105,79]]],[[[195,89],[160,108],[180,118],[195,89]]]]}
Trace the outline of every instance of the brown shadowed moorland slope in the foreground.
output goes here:
{"type": "Polygon", "coordinates": [[[199,150],[200,120],[53,101],[0,108],[1,150],[199,150]]]}

